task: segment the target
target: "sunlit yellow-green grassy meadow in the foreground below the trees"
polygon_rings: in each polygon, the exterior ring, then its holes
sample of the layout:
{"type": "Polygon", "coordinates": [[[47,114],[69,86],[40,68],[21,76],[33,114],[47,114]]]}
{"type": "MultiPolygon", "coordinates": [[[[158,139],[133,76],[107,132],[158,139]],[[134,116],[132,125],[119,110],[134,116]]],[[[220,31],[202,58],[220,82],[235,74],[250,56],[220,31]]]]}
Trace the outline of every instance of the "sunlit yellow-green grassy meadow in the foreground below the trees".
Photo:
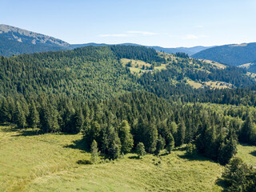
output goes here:
{"type": "Polygon", "coordinates": [[[81,150],[81,134],[33,135],[2,126],[0,138],[0,191],[221,190],[215,181],[223,167],[200,156],[187,159],[184,150],[82,165],[78,162],[90,160],[90,154],[81,150]]]}

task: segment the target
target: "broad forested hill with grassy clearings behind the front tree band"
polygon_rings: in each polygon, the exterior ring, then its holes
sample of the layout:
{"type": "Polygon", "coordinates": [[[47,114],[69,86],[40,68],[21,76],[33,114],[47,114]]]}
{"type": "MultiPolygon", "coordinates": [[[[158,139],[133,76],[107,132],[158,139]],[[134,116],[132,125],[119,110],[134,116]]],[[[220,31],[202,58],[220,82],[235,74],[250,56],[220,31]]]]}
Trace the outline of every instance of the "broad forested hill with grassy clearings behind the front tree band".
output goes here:
{"type": "Polygon", "coordinates": [[[201,83],[205,89],[208,82],[229,87],[254,84],[246,70],[221,69],[188,58],[186,54],[163,54],[144,46],[86,46],[1,57],[0,63],[2,95],[65,94],[107,98],[126,91],[147,90],[168,98],[193,89],[190,86],[193,83],[201,83]]]}

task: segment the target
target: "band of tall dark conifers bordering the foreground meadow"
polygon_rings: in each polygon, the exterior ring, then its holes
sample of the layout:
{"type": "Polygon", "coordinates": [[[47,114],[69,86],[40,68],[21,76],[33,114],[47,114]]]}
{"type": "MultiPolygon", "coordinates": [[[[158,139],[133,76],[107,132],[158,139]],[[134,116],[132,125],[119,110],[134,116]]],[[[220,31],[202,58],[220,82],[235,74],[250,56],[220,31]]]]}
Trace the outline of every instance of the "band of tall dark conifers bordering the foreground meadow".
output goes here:
{"type": "Polygon", "coordinates": [[[38,128],[39,133],[82,131],[88,146],[95,140],[110,158],[130,152],[139,142],[152,154],[194,142],[199,153],[226,164],[236,153],[238,138],[254,144],[251,135],[256,135],[253,107],[183,104],[146,92],[103,101],[47,95],[15,100],[1,99],[0,122],[38,128]]]}

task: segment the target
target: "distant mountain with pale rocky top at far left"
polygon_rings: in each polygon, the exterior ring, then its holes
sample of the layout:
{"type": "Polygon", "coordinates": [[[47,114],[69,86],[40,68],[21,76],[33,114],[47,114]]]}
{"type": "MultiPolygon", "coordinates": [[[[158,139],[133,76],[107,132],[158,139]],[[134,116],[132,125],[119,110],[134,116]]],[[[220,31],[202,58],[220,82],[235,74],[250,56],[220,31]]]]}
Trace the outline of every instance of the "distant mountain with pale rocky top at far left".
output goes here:
{"type": "Polygon", "coordinates": [[[0,25],[0,55],[31,54],[52,50],[68,50],[70,44],[44,34],[0,25]]]}

